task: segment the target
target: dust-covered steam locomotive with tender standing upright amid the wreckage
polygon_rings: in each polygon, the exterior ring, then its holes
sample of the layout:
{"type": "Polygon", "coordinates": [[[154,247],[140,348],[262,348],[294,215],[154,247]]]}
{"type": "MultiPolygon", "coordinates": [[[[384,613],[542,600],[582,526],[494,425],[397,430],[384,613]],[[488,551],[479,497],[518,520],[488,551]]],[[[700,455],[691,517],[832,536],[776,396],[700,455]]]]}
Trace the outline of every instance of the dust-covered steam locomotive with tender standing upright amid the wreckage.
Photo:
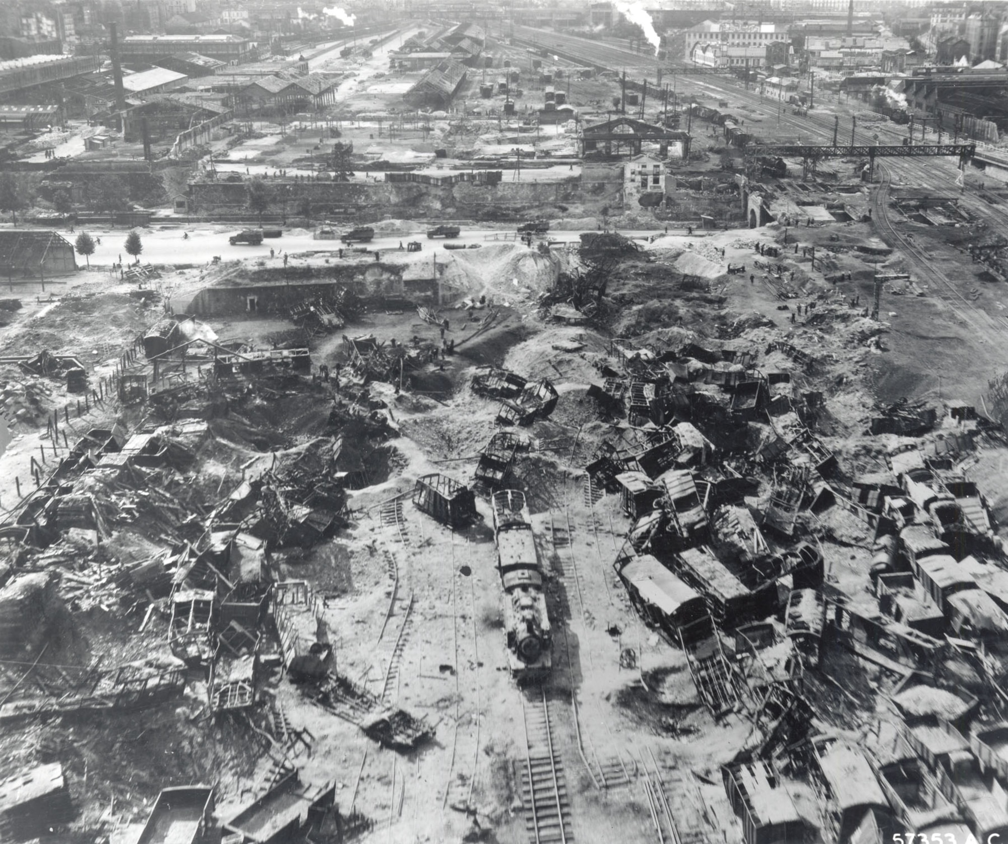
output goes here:
{"type": "Polygon", "coordinates": [[[531,516],[517,489],[495,493],[491,503],[511,676],[519,681],[541,678],[552,666],[552,631],[531,516]]]}

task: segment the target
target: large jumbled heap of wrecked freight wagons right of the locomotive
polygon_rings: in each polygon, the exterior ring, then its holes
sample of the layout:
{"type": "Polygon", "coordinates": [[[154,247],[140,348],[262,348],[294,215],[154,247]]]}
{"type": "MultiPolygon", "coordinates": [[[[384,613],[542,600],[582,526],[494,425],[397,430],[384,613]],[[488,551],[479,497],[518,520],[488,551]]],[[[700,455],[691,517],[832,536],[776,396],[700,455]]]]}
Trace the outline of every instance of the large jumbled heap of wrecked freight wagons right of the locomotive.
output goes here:
{"type": "MultiPolygon", "coordinates": [[[[588,463],[586,500],[616,493],[631,521],[614,568],[645,623],[681,649],[712,715],[751,723],[724,777],[736,811],[757,827],[805,835],[811,824],[847,840],[862,814],[838,807],[917,818],[896,798],[910,781],[894,786],[895,767],[827,726],[843,720],[830,674],[854,654],[891,683],[900,778],[916,777],[915,789],[943,782],[944,820],[987,829],[970,808],[988,799],[970,797],[977,760],[965,753],[974,767],[961,769],[918,757],[913,731],[943,725],[983,759],[969,724],[999,723],[1008,568],[966,467],[982,442],[1001,441],[1000,426],[958,401],[878,407],[865,435],[887,454],[886,471],[852,476],[816,432],[822,394],[799,388],[815,359],[781,341],[766,349],[778,353],[794,371],[761,365],[738,339],[618,339],[596,361],[601,378],[588,396],[618,435],[588,463]],[[838,579],[824,548],[847,518],[874,537],[875,553],[838,579]],[[826,789],[822,814],[781,820],[782,798],[795,805],[809,784],[826,789]]],[[[849,707],[856,699],[845,694],[849,707]]]]}

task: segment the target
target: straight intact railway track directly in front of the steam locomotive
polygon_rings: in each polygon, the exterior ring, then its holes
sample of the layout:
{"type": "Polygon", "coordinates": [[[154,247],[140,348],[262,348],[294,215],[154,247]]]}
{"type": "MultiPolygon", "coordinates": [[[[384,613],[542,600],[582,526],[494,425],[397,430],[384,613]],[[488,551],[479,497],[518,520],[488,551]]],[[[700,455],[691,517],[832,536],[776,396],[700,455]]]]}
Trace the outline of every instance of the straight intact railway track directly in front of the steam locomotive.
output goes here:
{"type": "Polygon", "coordinates": [[[529,841],[568,844],[574,841],[571,801],[559,753],[553,746],[545,689],[522,692],[521,711],[526,747],[521,803],[529,841]]]}

